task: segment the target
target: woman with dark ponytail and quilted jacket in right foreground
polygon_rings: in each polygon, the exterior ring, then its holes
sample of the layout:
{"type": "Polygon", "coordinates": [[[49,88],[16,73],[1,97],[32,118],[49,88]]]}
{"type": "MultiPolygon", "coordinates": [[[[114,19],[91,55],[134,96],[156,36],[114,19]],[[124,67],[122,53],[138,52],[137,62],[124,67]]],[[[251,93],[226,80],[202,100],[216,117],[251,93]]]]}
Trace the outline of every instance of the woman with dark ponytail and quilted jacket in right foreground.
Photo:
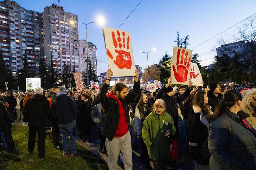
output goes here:
{"type": "Polygon", "coordinates": [[[255,169],[256,133],[243,107],[239,91],[229,90],[215,108],[208,137],[211,169],[255,169]]]}

